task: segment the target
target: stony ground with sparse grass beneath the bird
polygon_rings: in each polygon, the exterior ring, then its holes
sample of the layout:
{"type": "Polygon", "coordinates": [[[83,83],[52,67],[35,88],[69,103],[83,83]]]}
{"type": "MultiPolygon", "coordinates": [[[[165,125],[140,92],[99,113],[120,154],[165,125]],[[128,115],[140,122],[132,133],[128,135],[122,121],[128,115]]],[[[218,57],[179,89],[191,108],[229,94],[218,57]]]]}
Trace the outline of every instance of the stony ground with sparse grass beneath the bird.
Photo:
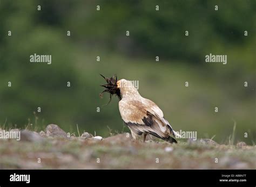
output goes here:
{"type": "Polygon", "coordinates": [[[40,133],[23,130],[20,141],[0,139],[0,169],[256,169],[255,158],[256,146],[244,142],[143,143],[129,133],[77,137],[53,124],[40,133]]]}

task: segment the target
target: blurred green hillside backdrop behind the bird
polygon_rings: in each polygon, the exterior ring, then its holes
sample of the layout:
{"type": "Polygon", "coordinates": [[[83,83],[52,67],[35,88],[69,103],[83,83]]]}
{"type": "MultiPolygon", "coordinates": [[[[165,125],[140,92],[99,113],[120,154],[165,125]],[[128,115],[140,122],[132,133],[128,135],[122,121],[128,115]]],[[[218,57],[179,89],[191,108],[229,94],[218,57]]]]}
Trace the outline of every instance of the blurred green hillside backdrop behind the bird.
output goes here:
{"type": "Polygon", "coordinates": [[[174,130],[225,143],[236,123],[235,140],[253,144],[255,44],[253,0],[1,0],[0,126],[121,132],[118,98],[103,106],[109,95],[99,97],[99,74],[117,74],[138,80],[140,94],[159,105],[174,130]],[[52,55],[52,64],[30,63],[34,53],[52,55]],[[227,64],[206,63],[210,53],[227,55],[227,64]]]}

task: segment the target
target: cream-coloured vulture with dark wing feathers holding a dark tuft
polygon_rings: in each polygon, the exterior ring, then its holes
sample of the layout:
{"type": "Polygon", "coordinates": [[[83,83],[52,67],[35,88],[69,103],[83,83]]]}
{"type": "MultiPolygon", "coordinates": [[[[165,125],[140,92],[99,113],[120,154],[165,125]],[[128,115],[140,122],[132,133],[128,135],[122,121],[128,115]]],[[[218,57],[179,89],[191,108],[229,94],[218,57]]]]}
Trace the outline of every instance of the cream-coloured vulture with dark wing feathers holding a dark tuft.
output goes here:
{"type": "Polygon", "coordinates": [[[129,127],[133,139],[137,140],[143,135],[145,142],[147,134],[151,134],[167,142],[177,143],[174,138],[179,134],[172,130],[161,109],[151,100],[140,96],[131,81],[125,79],[117,81],[117,76],[105,80],[107,84],[102,85],[106,88],[103,92],[110,93],[110,100],[112,95],[118,96],[121,117],[129,127]]]}

